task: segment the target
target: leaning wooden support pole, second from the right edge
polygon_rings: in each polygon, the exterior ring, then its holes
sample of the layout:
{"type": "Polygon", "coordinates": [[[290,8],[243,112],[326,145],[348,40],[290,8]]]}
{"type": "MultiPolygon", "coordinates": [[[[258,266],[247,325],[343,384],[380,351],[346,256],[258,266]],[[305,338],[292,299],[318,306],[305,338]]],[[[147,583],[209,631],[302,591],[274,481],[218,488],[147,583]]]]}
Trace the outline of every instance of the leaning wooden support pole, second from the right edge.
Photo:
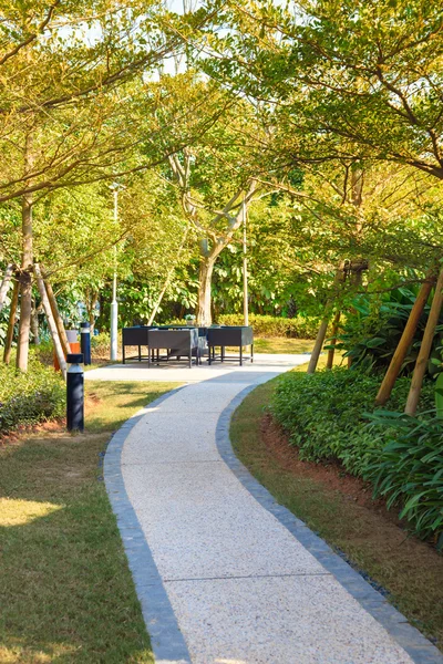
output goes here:
{"type": "Polygon", "coordinates": [[[378,406],[383,406],[391,396],[393,386],[395,384],[406,353],[413,342],[415,330],[418,328],[418,324],[420,322],[421,315],[423,313],[424,307],[427,302],[427,298],[430,297],[434,283],[435,273],[434,271],[432,273],[429,272],[426,276],[426,281],[422,283],[419,294],[416,295],[414,305],[411,309],[411,313],[409,314],[408,322],[403,330],[403,334],[401,335],[401,339],[399,341],[399,345],[395,349],[388,371],[384,374],[382,384],[380,385],[379,393],[375,397],[375,404],[378,406]]]}

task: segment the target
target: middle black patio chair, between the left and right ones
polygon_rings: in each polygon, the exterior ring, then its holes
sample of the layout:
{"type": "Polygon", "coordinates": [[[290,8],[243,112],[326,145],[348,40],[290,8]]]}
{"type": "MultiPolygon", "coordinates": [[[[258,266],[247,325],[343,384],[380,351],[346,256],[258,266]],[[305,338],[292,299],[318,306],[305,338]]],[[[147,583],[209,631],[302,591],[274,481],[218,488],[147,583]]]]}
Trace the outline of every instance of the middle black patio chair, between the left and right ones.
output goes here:
{"type": "Polygon", "coordinates": [[[169,361],[172,357],[175,357],[177,361],[181,361],[182,357],[186,359],[189,363],[189,369],[193,365],[193,357],[195,357],[195,364],[200,363],[202,345],[196,328],[151,329],[147,333],[147,345],[148,366],[153,362],[159,364],[161,362],[169,361]],[[156,356],[154,355],[154,351],[156,351],[156,356]],[[161,355],[159,351],[166,351],[166,353],[161,355]]]}

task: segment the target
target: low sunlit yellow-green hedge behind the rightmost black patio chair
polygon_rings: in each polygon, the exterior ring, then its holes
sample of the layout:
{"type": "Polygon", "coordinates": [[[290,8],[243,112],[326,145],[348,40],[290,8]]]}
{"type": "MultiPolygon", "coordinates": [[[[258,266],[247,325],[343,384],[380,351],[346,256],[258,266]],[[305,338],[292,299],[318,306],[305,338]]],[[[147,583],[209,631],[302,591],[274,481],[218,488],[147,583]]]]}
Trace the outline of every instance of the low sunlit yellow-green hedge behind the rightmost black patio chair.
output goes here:
{"type": "MultiPolygon", "coordinates": [[[[220,325],[243,325],[244,318],[239,313],[226,313],[218,317],[220,325]]],[[[290,336],[293,339],[316,339],[319,320],[312,317],[286,319],[276,315],[249,314],[249,325],[254,334],[261,338],[290,336]]]]}

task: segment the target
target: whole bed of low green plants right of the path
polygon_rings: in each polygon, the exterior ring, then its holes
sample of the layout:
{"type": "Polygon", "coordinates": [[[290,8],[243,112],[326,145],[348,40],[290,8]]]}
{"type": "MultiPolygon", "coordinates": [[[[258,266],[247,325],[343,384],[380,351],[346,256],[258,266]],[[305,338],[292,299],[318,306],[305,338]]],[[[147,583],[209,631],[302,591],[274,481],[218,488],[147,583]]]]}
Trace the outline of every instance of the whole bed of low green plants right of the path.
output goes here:
{"type": "Polygon", "coordinates": [[[422,412],[411,417],[399,413],[408,378],[396,381],[389,409],[374,409],[379,382],[378,374],[340,367],[310,376],[292,372],[279,382],[271,413],[301,459],[339,461],[370,480],[415,535],[441,546],[443,427],[433,409],[434,384],[425,383],[422,412]]]}

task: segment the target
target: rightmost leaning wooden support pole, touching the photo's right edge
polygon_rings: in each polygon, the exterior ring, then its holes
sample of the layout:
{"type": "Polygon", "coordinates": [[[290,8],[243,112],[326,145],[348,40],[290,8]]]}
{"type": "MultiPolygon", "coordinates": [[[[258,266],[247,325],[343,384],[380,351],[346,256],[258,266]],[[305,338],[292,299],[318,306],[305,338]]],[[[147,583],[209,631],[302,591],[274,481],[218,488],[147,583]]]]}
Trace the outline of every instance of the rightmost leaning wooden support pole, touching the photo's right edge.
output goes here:
{"type": "Polygon", "coordinates": [[[415,415],[419,405],[420,393],[422,391],[424,373],[427,366],[427,360],[431,353],[432,342],[434,340],[435,328],[439,322],[440,312],[443,304],[443,269],[440,271],[435,286],[434,299],[432,300],[431,311],[424,330],[422,345],[420,346],[414,373],[412,374],[411,387],[408,395],[404,412],[406,415],[415,415]]]}

